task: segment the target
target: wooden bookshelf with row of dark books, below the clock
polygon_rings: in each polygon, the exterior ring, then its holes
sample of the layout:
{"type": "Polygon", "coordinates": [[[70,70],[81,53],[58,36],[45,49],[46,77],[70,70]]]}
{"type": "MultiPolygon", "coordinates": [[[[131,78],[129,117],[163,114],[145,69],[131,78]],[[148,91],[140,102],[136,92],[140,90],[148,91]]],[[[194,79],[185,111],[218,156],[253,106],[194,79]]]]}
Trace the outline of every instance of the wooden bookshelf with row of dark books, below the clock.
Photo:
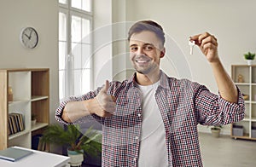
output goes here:
{"type": "Polygon", "coordinates": [[[32,136],[42,134],[48,124],[49,68],[0,69],[0,150],[12,146],[31,148],[32,136]],[[22,114],[24,130],[9,135],[9,114],[17,112],[22,114]],[[32,114],[37,118],[34,125],[32,114]]]}

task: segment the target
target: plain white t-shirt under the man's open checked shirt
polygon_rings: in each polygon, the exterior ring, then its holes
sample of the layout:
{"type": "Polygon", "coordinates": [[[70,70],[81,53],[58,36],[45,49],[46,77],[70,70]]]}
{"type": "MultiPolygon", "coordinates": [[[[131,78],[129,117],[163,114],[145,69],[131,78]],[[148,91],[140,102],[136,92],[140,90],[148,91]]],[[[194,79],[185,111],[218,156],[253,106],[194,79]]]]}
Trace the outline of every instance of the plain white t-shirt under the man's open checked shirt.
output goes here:
{"type": "Polygon", "coordinates": [[[143,93],[143,127],[139,150],[139,167],[168,166],[166,132],[159,107],[154,98],[160,81],[148,86],[138,85],[143,93]]]}

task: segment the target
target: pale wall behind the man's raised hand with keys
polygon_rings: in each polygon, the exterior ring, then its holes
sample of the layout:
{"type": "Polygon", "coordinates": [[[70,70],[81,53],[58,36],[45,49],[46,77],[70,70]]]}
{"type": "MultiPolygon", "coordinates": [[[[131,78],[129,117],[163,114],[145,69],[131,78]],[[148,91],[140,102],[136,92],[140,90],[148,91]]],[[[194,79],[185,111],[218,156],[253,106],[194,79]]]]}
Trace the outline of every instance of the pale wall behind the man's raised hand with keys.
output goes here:
{"type": "MultiPolygon", "coordinates": [[[[183,55],[172,55],[172,51],[180,53],[180,50],[171,49],[162,60],[161,68],[169,75],[183,77],[180,66],[184,66],[191,72],[192,80],[206,84],[215,93],[218,88],[207,60],[199,49],[189,55],[189,36],[210,32],[217,37],[218,52],[229,73],[232,64],[246,64],[244,53],[256,51],[256,1],[128,0],[126,3],[126,20],[156,20],[183,52],[183,55]],[[177,56],[187,62],[177,60],[177,56]]],[[[201,127],[200,130],[209,131],[201,127]]],[[[228,127],[223,131],[230,134],[228,127]]]]}

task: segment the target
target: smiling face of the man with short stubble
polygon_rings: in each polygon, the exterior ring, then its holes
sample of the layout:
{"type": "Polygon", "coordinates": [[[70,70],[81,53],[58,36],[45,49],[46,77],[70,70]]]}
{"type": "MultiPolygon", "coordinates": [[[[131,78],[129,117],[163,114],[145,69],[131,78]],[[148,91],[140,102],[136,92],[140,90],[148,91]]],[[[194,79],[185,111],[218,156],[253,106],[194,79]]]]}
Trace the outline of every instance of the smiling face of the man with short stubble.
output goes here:
{"type": "Polygon", "coordinates": [[[131,35],[130,60],[137,72],[149,74],[160,69],[160,58],[165,49],[154,32],[144,31],[131,35]]]}

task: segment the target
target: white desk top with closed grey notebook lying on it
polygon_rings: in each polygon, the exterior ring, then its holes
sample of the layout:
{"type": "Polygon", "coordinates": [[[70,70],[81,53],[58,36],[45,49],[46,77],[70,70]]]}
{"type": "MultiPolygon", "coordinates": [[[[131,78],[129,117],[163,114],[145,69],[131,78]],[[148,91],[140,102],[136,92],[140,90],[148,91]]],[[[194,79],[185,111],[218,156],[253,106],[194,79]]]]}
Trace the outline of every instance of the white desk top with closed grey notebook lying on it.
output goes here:
{"type": "Polygon", "coordinates": [[[40,152],[37,150],[17,147],[24,150],[31,150],[33,153],[16,162],[0,159],[0,166],[4,167],[66,167],[69,166],[69,157],[54,153],[40,152]]]}

